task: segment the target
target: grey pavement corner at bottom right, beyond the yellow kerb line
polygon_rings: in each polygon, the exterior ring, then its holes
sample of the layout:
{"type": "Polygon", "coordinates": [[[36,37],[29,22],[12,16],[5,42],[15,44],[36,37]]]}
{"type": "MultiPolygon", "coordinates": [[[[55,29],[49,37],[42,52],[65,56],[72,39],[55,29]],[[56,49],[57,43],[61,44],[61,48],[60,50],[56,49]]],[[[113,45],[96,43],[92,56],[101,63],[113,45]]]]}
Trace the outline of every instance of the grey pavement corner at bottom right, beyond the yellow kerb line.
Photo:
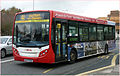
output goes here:
{"type": "Polygon", "coordinates": [[[115,65],[110,68],[106,68],[106,69],[103,69],[97,72],[89,73],[88,75],[119,75],[120,76],[119,68],[120,68],[120,65],[115,65]]]}

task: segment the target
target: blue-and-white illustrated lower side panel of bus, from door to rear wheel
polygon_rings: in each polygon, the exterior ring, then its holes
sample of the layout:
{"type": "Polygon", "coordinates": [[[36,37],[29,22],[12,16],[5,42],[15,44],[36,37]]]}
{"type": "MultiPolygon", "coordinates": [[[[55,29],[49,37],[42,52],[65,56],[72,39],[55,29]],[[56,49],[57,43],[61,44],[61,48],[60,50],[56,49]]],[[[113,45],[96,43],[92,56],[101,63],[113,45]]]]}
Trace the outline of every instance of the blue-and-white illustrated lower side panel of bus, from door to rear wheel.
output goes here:
{"type": "Polygon", "coordinates": [[[84,42],[69,44],[72,47],[68,47],[68,61],[70,61],[70,52],[73,48],[77,51],[77,58],[86,56],[92,56],[95,54],[104,53],[105,45],[107,41],[96,41],[96,42],[84,42]]]}

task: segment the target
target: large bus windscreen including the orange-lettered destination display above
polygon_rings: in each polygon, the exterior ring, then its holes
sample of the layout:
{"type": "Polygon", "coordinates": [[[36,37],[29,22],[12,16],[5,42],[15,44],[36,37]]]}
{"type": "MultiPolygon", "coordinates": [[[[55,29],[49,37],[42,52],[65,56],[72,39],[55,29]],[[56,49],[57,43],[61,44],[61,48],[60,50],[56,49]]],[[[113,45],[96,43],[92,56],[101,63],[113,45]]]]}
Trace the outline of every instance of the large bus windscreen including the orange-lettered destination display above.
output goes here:
{"type": "Polygon", "coordinates": [[[14,41],[16,46],[41,47],[49,44],[49,12],[18,14],[15,19],[14,41]]]}

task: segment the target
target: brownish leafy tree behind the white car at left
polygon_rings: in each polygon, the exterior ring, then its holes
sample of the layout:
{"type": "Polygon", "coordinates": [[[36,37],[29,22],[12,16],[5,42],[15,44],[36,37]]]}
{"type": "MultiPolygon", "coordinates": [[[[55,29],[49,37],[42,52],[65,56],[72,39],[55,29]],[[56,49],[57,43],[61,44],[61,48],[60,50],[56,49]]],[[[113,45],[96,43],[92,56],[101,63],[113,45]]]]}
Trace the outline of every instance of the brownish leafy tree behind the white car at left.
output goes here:
{"type": "Polygon", "coordinates": [[[12,35],[14,16],[18,12],[22,10],[15,7],[1,10],[1,35],[12,35]]]}

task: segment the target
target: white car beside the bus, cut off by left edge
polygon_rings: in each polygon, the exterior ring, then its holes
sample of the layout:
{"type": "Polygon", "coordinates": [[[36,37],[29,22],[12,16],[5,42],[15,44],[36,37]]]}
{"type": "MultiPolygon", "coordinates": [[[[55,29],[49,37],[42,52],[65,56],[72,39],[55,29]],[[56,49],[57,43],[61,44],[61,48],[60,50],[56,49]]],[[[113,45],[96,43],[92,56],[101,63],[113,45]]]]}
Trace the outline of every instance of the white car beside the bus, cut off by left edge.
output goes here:
{"type": "Polygon", "coordinates": [[[12,36],[0,36],[1,58],[7,54],[12,54],[12,36]]]}

